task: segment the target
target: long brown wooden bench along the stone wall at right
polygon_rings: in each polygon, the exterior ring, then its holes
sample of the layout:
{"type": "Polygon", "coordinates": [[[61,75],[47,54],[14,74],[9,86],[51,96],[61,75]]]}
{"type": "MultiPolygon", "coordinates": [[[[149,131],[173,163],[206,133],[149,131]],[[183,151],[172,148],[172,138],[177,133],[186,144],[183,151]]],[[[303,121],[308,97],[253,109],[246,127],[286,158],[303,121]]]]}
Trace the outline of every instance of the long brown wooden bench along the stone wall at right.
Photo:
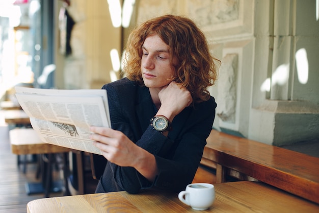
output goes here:
{"type": "Polygon", "coordinates": [[[216,169],[216,182],[230,175],[273,185],[319,204],[319,158],[212,130],[202,165],[216,169]]]}

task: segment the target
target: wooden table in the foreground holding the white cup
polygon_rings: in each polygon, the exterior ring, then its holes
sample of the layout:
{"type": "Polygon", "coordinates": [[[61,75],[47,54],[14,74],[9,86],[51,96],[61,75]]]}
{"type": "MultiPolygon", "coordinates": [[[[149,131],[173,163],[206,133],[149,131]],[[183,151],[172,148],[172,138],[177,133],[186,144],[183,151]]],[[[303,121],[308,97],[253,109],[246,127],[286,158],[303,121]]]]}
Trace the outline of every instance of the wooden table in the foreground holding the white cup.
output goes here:
{"type": "Polygon", "coordinates": [[[319,212],[319,205],[261,182],[215,184],[216,200],[203,211],[193,210],[175,193],[144,191],[44,198],[28,203],[29,213],[57,212],[319,212]]]}

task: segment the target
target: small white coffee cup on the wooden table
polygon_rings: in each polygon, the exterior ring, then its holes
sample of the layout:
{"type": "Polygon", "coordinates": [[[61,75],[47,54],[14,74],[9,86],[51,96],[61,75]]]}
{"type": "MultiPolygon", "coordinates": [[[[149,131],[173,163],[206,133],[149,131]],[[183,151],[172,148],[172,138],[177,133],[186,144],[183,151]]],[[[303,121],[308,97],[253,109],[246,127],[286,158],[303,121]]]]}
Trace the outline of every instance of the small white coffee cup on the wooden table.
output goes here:
{"type": "Polygon", "coordinates": [[[178,198],[195,210],[205,210],[214,203],[215,187],[209,183],[192,183],[178,194],[178,198]]]}

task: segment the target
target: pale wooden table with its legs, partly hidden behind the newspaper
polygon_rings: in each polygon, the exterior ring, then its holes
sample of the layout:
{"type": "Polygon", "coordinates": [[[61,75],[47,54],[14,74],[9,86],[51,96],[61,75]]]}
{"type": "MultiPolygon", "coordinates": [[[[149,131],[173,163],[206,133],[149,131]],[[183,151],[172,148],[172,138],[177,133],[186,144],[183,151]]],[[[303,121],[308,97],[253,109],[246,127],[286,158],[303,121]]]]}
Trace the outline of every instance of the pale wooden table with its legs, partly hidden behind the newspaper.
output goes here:
{"type": "MultiPolygon", "coordinates": [[[[69,148],[60,147],[56,145],[47,144],[41,141],[34,129],[12,129],[9,131],[11,151],[17,155],[28,154],[48,154],[48,168],[47,172],[42,179],[44,185],[45,197],[48,197],[50,191],[51,182],[51,167],[52,167],[52,154],[54,153],[66,153],[71,151],[69,148]]],[[[66,157],[64,157],[64,175],[66,175],[66,157]]],[[[67,178],[64,178],[66,181],[67,178]]],[[[67,185],[66,182],[64,182],[67,185]]],[[[42,185],[42,187],[43,187],[42,185]]],[[[32,192],[31,192],[32,193],[32,192]]]]}

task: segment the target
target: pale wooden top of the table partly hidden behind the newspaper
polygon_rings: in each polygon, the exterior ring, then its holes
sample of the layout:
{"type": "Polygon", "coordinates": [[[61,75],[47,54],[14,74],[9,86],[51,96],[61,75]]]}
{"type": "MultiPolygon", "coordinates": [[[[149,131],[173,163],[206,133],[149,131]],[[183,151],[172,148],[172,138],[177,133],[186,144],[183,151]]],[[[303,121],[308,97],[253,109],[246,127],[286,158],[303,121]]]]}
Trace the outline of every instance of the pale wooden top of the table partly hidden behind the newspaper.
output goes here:
{"type": "Polygon", "coordinates": [[[11,151],[13,154],[46,154],[69,152],[71,149],[44,143],[36,131],[31,128],[12,129],[9,131],[11,151]]]}

